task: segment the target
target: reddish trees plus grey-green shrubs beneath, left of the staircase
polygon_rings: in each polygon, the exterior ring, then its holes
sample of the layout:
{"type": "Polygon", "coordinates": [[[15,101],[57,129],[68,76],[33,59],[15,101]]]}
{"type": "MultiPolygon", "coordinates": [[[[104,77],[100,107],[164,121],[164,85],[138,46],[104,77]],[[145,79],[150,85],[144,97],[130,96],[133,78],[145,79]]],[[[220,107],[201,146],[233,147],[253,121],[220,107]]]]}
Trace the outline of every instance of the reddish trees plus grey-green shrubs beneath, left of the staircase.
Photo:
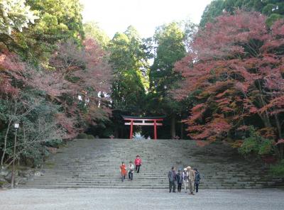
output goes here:
{"type": "Polygon", "coordinates": [[[107,120],[110,82],[107,53],[92,39],[81,47],[71,40],[58,43],[46,69],[1,49],[1,165],[11,164],[16,121],[21,123],[18,153],[40,157],[41,144],[75,138],[97,121],[107,120]]]}

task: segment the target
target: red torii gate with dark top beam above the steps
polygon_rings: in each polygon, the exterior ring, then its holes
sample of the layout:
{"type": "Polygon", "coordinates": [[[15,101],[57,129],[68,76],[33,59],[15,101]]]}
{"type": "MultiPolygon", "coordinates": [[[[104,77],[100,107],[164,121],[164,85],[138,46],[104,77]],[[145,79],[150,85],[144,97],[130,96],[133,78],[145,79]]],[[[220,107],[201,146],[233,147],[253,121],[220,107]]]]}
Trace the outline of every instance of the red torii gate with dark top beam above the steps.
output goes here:
{"type": "Polygon", "coordinates": [[[122,116],[124,118],[124,125],[130,126],[129,139],[132,139],[133,126],[154,126],[154,139],[157,139],[157,126],[163,126],[162,123],[157,121],[163,121],[163,116],[153,117],[138,117],[138,116],[122,116]]]}

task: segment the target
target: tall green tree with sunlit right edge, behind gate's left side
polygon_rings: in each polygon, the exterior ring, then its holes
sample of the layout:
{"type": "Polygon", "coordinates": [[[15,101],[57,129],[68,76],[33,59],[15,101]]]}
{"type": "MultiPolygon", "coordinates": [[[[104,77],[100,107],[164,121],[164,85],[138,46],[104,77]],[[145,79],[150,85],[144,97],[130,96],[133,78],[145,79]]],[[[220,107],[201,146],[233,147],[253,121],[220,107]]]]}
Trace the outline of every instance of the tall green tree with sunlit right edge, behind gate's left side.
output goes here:
{"type": "MultiPolygon", "coordinates": [[[[148,52],[133,26],[124,33],[116,33],[109,43],[109,59],[114,67],[111,87],[115,121],[119,115],[141,115],[143,99],[148,89],[148,52]]],[[[116,125],[119,126],[119,125],[116,125]]],[[[118,135],[116,131],[116,136],[118,135]]]]}

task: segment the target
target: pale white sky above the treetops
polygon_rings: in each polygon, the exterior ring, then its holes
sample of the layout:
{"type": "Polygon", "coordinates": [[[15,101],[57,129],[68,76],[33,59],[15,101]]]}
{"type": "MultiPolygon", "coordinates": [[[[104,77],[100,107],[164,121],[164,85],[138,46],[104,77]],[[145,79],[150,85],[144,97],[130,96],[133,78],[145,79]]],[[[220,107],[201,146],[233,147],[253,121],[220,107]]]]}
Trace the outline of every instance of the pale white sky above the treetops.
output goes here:
{"type": "Polygon", "coordinates": [[[99,23],[112,38],[134,26],[143,38],[155,27],[170,21],[190,19],[199,23],[205,6],[212,0],[80,0],[84,5],[83,21],[99,23]]]}

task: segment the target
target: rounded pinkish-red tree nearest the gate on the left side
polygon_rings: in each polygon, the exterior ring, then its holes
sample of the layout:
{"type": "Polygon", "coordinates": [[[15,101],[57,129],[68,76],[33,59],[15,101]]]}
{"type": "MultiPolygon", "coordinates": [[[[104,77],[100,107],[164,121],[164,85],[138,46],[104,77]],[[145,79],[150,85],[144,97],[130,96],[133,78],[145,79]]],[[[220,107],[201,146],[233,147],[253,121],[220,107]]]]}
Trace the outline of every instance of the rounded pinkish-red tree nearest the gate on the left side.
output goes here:
{"type": "MultiPolygon", "coordinates": [[[[70,41],[60,43],[52,62],[57,69],[53,72],[55,79],[47,79],[46,83],[49,87],[58,85],[58,92],[52,93],[54,96],[60,96],[62,106],[65,107],[67,115],[71,116],[66,119],[69,122],[67,124],[61,120],[62,126],[70,135],[74,136],[76,133],[72,131],[75,129],[72,127],[72,119],[75,116],[82,121],[76,124],[77,130],[78,127],[83,128],[82,125],[94,125],[98,119],[105,120],[109,117],[104,100],[109,96],[111,67],[107,62],[106,52],[98,43],[92,38],[84,40],[82,48],[70,41]],[[62,94],[67,94],[67,99],[62,94]],[[78,96],[80,101],[77,101],[78,96]],[[70,104],[70,98],[73,99],[73,104],[70,104]]],[[[50,92],[50,89],[45,91],[50,92]]]]}

